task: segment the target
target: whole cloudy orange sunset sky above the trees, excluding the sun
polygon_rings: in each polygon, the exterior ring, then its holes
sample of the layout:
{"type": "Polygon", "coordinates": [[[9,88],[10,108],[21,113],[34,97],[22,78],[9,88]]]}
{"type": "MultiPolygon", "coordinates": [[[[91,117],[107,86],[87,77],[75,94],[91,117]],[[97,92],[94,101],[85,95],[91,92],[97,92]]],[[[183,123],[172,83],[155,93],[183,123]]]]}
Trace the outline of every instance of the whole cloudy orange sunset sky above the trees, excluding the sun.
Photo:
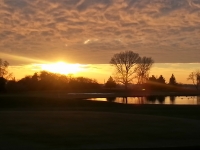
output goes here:
{"type": "Polygon", "coordinates": [[[65,61],[108,78],[105,64],[129,50],[181,82],[200,63],[200,0],[0,0],[0,18],[0,58],[19,77],[65,61]]]}

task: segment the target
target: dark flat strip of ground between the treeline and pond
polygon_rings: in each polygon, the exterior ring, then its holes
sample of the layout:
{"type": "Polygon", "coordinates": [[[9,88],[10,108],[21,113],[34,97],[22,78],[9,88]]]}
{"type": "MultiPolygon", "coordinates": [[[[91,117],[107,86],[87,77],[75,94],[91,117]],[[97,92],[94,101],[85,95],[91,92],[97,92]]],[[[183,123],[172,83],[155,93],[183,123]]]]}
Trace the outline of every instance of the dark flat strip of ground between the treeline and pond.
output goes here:
{"type": "Polygon", "coordinates": [[[45,98],[105,98],[105,97],[146,97],[146,96],[199,96],[200,91],[108,91],[108,92],[67,92],[67,91],[30,91],[19,93],[1,93],[2,97],[45,97],[45,98]]]}

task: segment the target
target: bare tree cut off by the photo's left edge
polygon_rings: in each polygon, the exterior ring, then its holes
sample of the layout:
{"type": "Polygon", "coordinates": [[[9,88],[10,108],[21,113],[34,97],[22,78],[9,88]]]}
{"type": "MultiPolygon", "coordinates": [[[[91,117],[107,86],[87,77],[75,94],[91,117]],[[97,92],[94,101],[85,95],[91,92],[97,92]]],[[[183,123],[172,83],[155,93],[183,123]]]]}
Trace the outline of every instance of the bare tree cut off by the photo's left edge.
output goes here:
{"type": "Polygon", "coordinates": [[[0,59],[0,77],[9,79],[12,77],[12,73],[8,71],[9,63],[0,59]]]}

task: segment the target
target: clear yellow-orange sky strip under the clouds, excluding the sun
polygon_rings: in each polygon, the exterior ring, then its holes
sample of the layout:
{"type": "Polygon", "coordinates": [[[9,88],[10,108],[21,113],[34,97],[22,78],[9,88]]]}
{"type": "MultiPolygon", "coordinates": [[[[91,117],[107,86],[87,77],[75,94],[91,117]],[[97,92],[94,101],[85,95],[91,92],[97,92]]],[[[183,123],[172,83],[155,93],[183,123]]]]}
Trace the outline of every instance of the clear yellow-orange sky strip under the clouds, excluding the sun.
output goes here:
{"type": "MultiPolygon", "coordinates": [[[[178,83],[191,83],[187,80],[190,72],[198,69],[200,64],[154,64],[150,75],[159,77],[163,75],[166,79],[166,83],[169,82],[169,78],[173,73],[178,83]]],[[[30,64],[24,66],[11,66],[10,71],[13,72],[16,79],[20,79],[25,75],[33,75],[35,72],[41,71],[41,64],[30,64]]],[[[99,83],[107,81],[109,76],[113,75],[114,68],[109,64],[80,64],[80,71],[76,71],[74,76],[84,76],[92,79],[96,79],[99,83]]],[[[62,68],[63,70],[69,70],[70,68],[62,68]]]]}

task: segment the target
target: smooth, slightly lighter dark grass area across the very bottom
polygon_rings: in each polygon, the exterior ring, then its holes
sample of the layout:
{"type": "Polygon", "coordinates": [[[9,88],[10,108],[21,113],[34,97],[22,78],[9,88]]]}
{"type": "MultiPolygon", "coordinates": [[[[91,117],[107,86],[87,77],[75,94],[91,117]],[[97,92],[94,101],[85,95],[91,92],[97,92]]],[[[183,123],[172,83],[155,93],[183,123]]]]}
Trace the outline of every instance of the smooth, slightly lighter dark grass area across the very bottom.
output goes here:
{"type": "Polygon", "coordinates": [[[200,121],[94,111],[1,111],[1,149],[196,146],[200,121]]]}

